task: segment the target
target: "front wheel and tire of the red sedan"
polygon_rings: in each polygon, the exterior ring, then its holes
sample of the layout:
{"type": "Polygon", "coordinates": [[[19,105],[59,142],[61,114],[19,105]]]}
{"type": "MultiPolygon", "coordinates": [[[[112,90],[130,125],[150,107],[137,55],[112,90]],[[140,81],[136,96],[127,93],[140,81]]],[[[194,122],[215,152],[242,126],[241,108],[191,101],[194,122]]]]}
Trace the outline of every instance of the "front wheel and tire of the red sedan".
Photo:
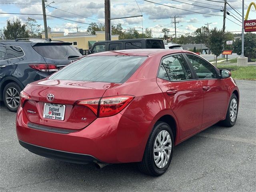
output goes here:
{"type": "Polygon", "coordinates": [[[237,114],[238,114],[238,99],[236,95],[233,93],[229,101],[228,110],[226,113],[226,119],[221,122],[222,125],[226,127],[234,126],[234,124],[236,124],[237,114]]]}

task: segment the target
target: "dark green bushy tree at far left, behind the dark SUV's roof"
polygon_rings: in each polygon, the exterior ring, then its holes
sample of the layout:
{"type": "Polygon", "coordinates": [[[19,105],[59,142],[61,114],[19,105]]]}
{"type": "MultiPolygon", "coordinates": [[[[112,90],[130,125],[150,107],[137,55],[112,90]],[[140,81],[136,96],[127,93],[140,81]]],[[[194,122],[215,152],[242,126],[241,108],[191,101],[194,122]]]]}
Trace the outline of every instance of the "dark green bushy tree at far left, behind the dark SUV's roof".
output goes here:
{"type": "Polygon", "coordinates": [[[28,38],[28,31],[26,30],[26,23],[22,24],[19,18],[16,20],[7,20],[4,28],[4,36],[6,39],[28,38]]]}

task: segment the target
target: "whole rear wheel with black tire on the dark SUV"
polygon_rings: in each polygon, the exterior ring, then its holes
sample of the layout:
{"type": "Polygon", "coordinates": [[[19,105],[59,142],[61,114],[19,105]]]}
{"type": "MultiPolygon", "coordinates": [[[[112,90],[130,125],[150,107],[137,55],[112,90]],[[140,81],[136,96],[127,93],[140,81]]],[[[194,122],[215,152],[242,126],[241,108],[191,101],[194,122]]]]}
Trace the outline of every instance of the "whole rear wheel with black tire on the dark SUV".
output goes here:
{"type": "Polygon", "coordinates": [[[3,100],[5,106],[11,112],[17,112],[20,105],[20,92],[21,88],[18,84],[11,82],[4,87],[3,100]]]}

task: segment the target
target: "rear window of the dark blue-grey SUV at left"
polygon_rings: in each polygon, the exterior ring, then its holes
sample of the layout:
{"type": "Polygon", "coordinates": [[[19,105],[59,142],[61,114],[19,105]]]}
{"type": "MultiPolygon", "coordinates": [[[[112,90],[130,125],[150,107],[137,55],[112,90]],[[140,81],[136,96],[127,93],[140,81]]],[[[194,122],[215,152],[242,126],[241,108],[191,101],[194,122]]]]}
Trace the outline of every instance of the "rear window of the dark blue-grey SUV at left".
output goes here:
{"type": "Polygon", "coordinates": [[[72,59],[82,55],[72,45],[39,45],[33,47],[43,57],[49,59],[72,59]]]}

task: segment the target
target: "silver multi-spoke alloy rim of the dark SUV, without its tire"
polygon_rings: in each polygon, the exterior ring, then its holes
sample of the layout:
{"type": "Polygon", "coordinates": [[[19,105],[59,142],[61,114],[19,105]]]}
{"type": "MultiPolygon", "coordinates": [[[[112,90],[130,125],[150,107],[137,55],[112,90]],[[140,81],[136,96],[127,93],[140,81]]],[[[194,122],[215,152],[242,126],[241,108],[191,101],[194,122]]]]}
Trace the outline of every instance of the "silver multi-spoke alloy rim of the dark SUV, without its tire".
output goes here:
{"type": "Polygon", "coordinates": [[[10,87],[5,92],[6,103],[10,108],[17,108],[20,104],[20,93],[14,87],[10,87]]]}

